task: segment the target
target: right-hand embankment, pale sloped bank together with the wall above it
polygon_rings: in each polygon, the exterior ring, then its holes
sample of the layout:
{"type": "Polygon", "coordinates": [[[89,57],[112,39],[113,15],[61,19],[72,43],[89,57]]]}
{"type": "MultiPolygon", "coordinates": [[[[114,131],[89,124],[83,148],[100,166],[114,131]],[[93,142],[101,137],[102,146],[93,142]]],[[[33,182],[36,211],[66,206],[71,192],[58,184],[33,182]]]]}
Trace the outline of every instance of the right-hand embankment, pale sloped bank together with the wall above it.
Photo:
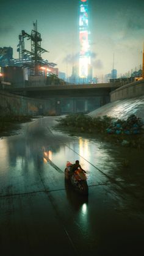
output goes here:
{"type": "Polygon", "coordinates": [[[132,82],[110,93],[110,103],[102,106],[88,115],[103,117],[108,115],[118,119],[127,119],[135,114],[144,122],[144,81],[132,82]]]}

